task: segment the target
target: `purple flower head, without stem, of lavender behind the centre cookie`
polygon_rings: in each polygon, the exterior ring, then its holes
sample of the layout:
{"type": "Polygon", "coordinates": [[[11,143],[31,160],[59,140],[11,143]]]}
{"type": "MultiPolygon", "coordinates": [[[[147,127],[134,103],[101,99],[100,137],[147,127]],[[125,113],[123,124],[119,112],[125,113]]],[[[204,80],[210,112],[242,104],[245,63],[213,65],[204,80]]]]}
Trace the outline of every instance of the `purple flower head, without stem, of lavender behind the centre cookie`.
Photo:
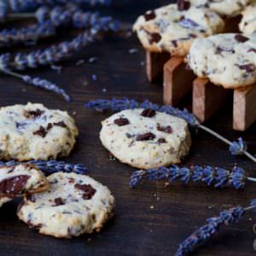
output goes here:
{"type": "Polygon", "coordinates": [[[180,110],[178,108],[173,108],[171,106],[159,107],[157,104],[154,104],[149,101],[144,101],[143,103],[139,103],[136,100],[133,100],[133,99],[129,100],[128,98],[123,98],[120,100],[113,98],[113,100],[91,101],[85,104],[85,107],[96,109],[96,111],[99,111],[99,112],[105,112],[105,111],[119,112],[125,109],[152,108],[156,111],[169,113],[181,119],[185,119],[189,123],[189,125],[192,125],[192,126],[199,125],[198,120],[195,118],[195,116],[192,113],[189,113],[187,109],[180,110]]]}

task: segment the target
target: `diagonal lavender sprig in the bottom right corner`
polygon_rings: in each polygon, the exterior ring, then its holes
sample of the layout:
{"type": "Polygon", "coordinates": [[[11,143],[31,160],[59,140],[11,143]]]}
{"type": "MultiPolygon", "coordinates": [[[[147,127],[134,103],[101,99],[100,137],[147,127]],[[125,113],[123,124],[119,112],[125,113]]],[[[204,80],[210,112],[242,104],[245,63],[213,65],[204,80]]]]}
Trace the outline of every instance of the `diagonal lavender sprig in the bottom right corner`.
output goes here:
{"type": "Polygon", "coordinates": [[[234,207],[223,212],[219,212],[218,217],[207,219],[207,224],[195,230],[186,240],[184,240],[178,247],[175,256],[188,255],[195,251],[196,248],[204,245],[218,230],[224,226],[238,222],[238,220],[245,214],[245,212],[256,209],[256,199],[250,204],[250,207],[234,207]]]}

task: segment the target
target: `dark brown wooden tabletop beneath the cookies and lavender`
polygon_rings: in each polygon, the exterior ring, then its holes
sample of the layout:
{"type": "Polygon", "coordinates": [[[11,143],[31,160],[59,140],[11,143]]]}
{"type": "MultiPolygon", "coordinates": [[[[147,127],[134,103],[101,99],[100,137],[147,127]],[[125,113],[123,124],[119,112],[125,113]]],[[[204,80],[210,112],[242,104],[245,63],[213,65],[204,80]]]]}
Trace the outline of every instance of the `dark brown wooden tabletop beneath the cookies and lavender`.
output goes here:
{"type": "MultiPolygon", "coordinates": [[[[122,1],[120,1],[122,2],[122,1]]],[[[135,20],[144,10],[168,1],[123,1],[111,13],[126,21],[135,20]]],[[[110,160],[108,151],[99,140],[101,121],[108,114],[95,113],[84,108],[84,103],[96,98],[128,96],[137,100],[148,99],[161,103],[160,84],[150,84],[146,79],[144,52],[135,37],[108,38],[90,45],[76,58],[62,63],[61,74],[49,68],[29,72],[61,84],[73,96],[67,104],[54,94],[26,86],[17,79],[1,76],[1,106],[15,103],[42,102],[49,108],[76,112],[79,139],[67,159],[83,163],[90,176],[108,185],[117,200],[116,215],[99,234],[60,240],[39,235],[21,223],[15,211],[18,201],[0,209],[0,255],[173,255],[180,241],[205,224],[205,219],[220,210],[247,203],[255,196],[256,185],[249,183],[242,191],[212,189],[193,183],[173,183],[166,188],[163,183],[143,183],[138,189],[129,188],[133,168],[110,160]],[[136,55],[128,53],[137,48],[136,55]],[[95,64],[76,67],[76,61],[98,56],[95,64]],[[91,79],[96,74],[97,81],[91,79]]],[[[181,104],[189,106],[189,98],[181,104]]],[[[207,125],[230,139],[244,137],[251,152],[256,152],[254,124],[244,132],[232,131],[232,103],[227,102],[207,125]]],[[[237,163],[256,177],[255,164],[245,157],[231,156],[224,143],[203,131],[193,136],[193,147],[184,164],[212,165],[232,168],[237,163]]],[[[239,224],[225,227],[218,236],[201,247],[198,255],[255,255],[253,241],[256,233],[255,213],[249,212],[239,224]]]]}

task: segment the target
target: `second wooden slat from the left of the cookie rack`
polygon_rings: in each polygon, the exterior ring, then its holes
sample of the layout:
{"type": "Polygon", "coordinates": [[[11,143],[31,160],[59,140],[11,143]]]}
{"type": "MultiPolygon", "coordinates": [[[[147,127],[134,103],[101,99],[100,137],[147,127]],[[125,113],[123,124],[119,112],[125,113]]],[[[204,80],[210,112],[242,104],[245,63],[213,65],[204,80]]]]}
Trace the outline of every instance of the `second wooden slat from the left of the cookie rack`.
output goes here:
{"type": "Polygon", "coordinates": [[[164,103],[175,106],[192,89],[195,74],[186,68],[183,58],[172,57],[164,67],[164,103]]]}

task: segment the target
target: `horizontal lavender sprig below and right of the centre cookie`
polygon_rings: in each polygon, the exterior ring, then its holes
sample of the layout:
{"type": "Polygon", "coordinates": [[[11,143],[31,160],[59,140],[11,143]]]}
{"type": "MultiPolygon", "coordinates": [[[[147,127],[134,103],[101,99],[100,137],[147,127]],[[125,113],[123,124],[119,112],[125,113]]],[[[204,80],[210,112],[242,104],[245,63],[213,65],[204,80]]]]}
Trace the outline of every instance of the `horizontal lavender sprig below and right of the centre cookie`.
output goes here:
{"type": "Polygon", "coordinates": [[[256,178],[248,177],[245,170],[236,166],[230,172],[223,168],[212,166],[179,167],[172,165],[169,168],[160,167],[158,169],[133,172],[130,179],[131,188],[137,187],[144,179],[148,179],[151,182],[162,179],[174,182],[179,179],[184,183],[189,183],[192,180],[193,182],[207,183],[208,186],[214,186],[215,188],[234,187],[235,189],[244,189],[247,180],[256,182],[256,178]]]}

